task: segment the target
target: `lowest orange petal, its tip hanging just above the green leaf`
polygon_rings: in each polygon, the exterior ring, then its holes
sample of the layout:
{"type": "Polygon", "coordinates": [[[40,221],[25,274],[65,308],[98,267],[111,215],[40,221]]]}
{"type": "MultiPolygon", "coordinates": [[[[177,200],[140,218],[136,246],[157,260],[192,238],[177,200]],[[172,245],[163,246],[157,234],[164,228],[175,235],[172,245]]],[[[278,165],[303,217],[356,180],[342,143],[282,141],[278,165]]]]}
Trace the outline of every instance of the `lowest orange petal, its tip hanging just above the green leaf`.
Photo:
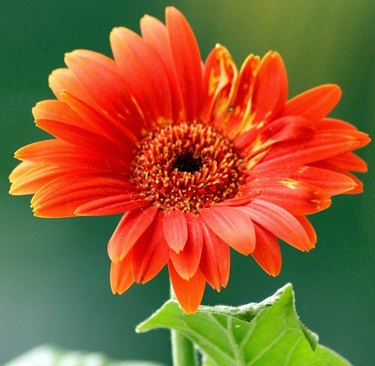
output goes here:
{"type": "Polygon", "coordinates": [[[202,302],[206,280],[198,270],[189,280],[184,280],[169,262],[169,277],[178,302],[186,314],[193,314],[202,302]]]}

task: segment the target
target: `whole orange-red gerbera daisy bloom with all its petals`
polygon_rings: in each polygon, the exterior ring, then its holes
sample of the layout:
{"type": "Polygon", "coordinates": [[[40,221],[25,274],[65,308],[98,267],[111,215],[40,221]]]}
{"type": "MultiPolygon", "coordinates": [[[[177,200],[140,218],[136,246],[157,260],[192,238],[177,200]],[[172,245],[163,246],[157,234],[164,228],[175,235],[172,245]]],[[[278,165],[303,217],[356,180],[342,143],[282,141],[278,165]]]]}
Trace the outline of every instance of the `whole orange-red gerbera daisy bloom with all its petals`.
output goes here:
{"type": "Polygon", "coordinates": [[[16,152],[12,194],[34,194],[39,217],[123,214],[108,253],[123,293],[168,266],[176,297],[195,312],[208,282],[229,277],[230,247],[280,272],[278,238],[308,251],[306,215],[331,196],[362,191],[349,171],[369,138],[327,114],[340,99],[322,85],[287,100],[276,52],[238,71],[216,46],[203,63],[175,8],[145,16],[142,37],[115,28],[114,60],[76,50],[49,79],[56,100],[33,109],[54,137],[16,152]]]}

